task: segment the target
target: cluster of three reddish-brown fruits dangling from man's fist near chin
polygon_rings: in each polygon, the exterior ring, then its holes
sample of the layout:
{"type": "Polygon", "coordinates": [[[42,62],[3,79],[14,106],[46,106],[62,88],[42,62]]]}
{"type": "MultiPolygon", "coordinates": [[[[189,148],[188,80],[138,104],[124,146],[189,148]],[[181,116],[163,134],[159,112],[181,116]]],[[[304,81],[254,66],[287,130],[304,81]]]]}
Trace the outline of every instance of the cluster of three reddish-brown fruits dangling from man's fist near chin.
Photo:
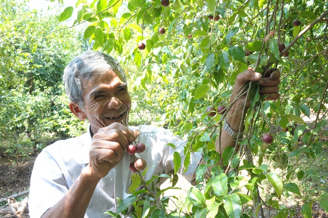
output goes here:
{"type": "MultiPolygon", "coordinates": [[[[134,156],[135,153],[141,153],[141,152],[144,152],[146,149],[146,146],[144,143],[138,143],[136,145],[129,145],[127,148],[126,148],[126,152],[130,155],[133,155],[133,159],[135,160],[136,159],[136,156],[134,156]]],[[[138,172],[139,170],[144,170],[147,166],[147,163],[144,159],[142,158],[139,158],[133,162],[130,163],[130,170],[132,172],[138,172]]]]}

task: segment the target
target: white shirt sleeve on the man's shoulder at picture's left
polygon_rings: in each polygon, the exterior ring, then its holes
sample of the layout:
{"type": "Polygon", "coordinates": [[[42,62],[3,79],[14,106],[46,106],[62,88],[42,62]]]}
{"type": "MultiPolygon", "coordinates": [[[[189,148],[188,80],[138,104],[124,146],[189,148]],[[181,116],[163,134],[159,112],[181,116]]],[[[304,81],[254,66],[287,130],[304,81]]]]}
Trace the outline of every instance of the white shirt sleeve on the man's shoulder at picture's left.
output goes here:
{"type": "Polygon", "coordinates": [[[52,155],[42,151],[36,158],[31,176],[29,211],[31,218],[40,218],[68,191],[65,169],[52,155]]]}

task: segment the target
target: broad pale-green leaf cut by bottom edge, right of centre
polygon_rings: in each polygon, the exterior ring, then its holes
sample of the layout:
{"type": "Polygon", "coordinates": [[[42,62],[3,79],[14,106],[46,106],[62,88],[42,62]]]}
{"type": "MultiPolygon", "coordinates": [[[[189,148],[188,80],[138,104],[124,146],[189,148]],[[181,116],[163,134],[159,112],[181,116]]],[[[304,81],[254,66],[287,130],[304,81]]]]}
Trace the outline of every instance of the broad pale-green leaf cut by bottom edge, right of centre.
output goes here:
{"type": "Polygon", "coordinates": [[[223,207],[229,218],[240,218],[242,215],[242,204],[236,193],[223,197],[223,207]]]}

